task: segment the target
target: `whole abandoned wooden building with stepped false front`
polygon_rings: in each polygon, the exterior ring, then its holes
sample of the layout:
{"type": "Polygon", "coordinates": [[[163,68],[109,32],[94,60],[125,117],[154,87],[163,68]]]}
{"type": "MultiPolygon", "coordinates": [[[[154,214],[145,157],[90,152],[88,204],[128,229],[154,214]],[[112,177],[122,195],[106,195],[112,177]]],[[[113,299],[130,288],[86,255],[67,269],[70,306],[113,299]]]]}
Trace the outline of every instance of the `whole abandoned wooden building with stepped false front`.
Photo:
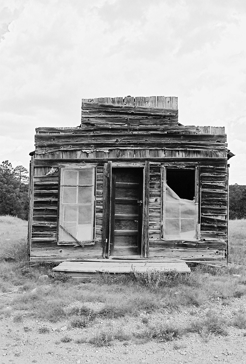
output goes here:
{"type": "Polygon", "coordinates": [[[80,126],[35,146],[30,261],[226,261],[225,128],[183,126],[176,97],[83,99],[80,126]]]}

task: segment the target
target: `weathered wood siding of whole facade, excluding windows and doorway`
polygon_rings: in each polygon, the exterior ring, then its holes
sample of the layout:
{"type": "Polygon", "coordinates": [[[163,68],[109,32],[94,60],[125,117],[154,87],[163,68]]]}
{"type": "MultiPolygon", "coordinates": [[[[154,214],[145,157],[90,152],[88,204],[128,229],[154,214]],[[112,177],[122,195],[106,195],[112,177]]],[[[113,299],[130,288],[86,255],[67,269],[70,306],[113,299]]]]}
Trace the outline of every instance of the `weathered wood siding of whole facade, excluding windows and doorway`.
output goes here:
{"type": "Polygon", "coordinates": [[[143,256],[190,260],[225,258],[228,153],[225,128],[179,124],[177,98],[84,99],[81,126],[37,128],[35,149],[33,218],[28,239],[31,260],[108,256],[108,230],[103,226],[108,189],[104,166],[139,162],[145,164],[147,171],[143,234],[149,245],[143,244],[143,256]],[[85,248],[57,245],[59,175],[47,173],[52,167],[59,170],[59,167],[81,163],[96,165],[95,245],[85,248]],[[199,241],[161,238],[161,165],[199,169],[199,241]]]}

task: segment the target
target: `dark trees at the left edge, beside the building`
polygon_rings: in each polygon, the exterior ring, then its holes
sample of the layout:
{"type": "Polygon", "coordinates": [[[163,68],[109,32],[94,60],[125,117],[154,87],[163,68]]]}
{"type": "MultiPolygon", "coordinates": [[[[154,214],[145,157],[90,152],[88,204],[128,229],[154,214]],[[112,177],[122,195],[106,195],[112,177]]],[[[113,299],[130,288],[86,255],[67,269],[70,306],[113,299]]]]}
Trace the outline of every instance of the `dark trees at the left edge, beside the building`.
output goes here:
{"type": "Polygon", "coordinates": [[[0,215],[7,214],[28,219],[28,171],[4,161],[0,165],[0,215]]]}

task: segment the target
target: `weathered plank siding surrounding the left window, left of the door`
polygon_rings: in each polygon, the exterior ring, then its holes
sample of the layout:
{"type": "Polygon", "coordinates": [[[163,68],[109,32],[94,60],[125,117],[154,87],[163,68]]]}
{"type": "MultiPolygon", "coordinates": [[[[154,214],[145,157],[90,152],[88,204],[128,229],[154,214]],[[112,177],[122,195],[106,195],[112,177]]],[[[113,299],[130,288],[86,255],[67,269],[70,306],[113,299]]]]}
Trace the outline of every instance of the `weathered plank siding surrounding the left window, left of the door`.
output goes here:
{"type": "Polygon", "coordinates": [[[59,176],[45,175],[50,167],[35,167],[33,177],[34,207],[30,260],[66,260],[102,256],[103,165],[96,171],[95,245],[74,248],[73,244],[57,245],[57,206],[59,176]]]}

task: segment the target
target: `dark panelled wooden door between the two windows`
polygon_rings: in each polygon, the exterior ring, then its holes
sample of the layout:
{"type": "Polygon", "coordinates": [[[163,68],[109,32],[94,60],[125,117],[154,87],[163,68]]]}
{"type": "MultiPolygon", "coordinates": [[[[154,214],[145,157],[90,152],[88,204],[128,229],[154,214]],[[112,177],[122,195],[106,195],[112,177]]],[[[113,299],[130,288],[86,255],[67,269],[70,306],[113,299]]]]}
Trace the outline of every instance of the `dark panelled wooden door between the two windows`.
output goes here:
{"type": "Polygon", "coordinates": [[[112,168],[110,255],[140,255],[143,168],[112,168]]]}

